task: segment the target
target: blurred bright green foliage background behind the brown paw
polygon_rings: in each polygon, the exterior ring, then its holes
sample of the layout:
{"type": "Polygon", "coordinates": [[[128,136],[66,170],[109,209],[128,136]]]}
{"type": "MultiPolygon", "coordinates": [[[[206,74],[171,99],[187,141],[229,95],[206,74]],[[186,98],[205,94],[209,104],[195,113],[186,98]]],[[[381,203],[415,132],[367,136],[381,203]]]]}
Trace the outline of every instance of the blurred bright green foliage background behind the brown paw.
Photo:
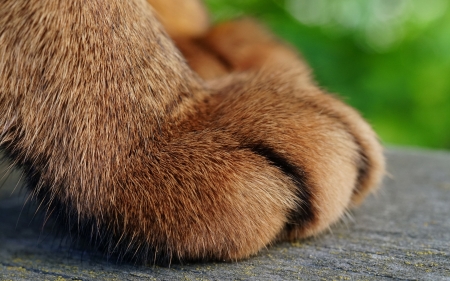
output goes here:
{"type": "Polygon", "coordinates": [[[450,1],[206,3],[216,22],[250,15],[297,46],[385,144],[450,149],[450,1]]]}

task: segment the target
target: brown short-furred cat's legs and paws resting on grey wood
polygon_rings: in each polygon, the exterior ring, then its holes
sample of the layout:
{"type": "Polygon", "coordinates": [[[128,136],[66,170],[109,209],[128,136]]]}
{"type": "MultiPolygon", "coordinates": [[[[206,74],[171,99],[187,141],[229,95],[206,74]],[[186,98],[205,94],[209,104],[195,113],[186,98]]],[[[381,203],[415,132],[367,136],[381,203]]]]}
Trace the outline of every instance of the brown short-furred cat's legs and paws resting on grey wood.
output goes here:
{"type": "Polygon", "coordinates": [[[180,1],[0,2],[1,147],[109,254],[230,261],[323,231],[380,181],[376,135],[257,23],[180,1]]]}

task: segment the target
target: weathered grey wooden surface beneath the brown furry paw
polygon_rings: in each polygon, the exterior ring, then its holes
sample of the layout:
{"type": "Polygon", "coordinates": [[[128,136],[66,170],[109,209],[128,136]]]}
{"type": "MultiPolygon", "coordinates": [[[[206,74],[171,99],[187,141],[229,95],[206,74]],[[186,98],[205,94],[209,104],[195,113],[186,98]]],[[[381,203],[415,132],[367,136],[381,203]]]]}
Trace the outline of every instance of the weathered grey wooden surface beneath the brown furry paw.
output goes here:
{"type": "Polygon", "coordinates": [[[387,156],[391,177],[378,195],[328,233],[242,262],[171,268],[71,249],[35,206],[23,207],[26,194],[10,195],[11,176],[0,190],[0,280],[450,280],[450,154],[387,156]]]}

